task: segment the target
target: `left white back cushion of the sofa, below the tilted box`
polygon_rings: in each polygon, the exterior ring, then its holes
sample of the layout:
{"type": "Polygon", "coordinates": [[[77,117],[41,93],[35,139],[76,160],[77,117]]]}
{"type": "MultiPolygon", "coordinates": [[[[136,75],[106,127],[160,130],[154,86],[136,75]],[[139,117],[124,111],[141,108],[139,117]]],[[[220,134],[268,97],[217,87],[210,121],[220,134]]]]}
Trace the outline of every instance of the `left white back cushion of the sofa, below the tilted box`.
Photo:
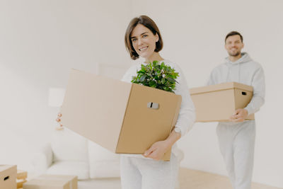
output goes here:
{"type": "Polygon", "coordinates": [[[85,137],[64,127],[64,130],[54,131],[51,141],[54,161],[88,161],[85,137]]]}

